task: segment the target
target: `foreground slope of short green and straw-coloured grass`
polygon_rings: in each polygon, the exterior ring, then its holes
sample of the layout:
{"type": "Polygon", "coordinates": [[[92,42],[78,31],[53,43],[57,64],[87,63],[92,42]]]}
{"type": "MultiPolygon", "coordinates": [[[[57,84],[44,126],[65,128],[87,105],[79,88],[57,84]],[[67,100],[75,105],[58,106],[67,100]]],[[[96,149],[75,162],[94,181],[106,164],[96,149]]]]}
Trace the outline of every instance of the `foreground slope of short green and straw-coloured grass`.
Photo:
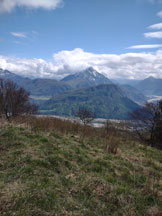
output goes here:
{"type": "Polygon", "coordinates": [[[79,135],[0,129],[0,215],[142,216],[160,208],[162,151],[130,142],[113,155],[79,135]]]}

